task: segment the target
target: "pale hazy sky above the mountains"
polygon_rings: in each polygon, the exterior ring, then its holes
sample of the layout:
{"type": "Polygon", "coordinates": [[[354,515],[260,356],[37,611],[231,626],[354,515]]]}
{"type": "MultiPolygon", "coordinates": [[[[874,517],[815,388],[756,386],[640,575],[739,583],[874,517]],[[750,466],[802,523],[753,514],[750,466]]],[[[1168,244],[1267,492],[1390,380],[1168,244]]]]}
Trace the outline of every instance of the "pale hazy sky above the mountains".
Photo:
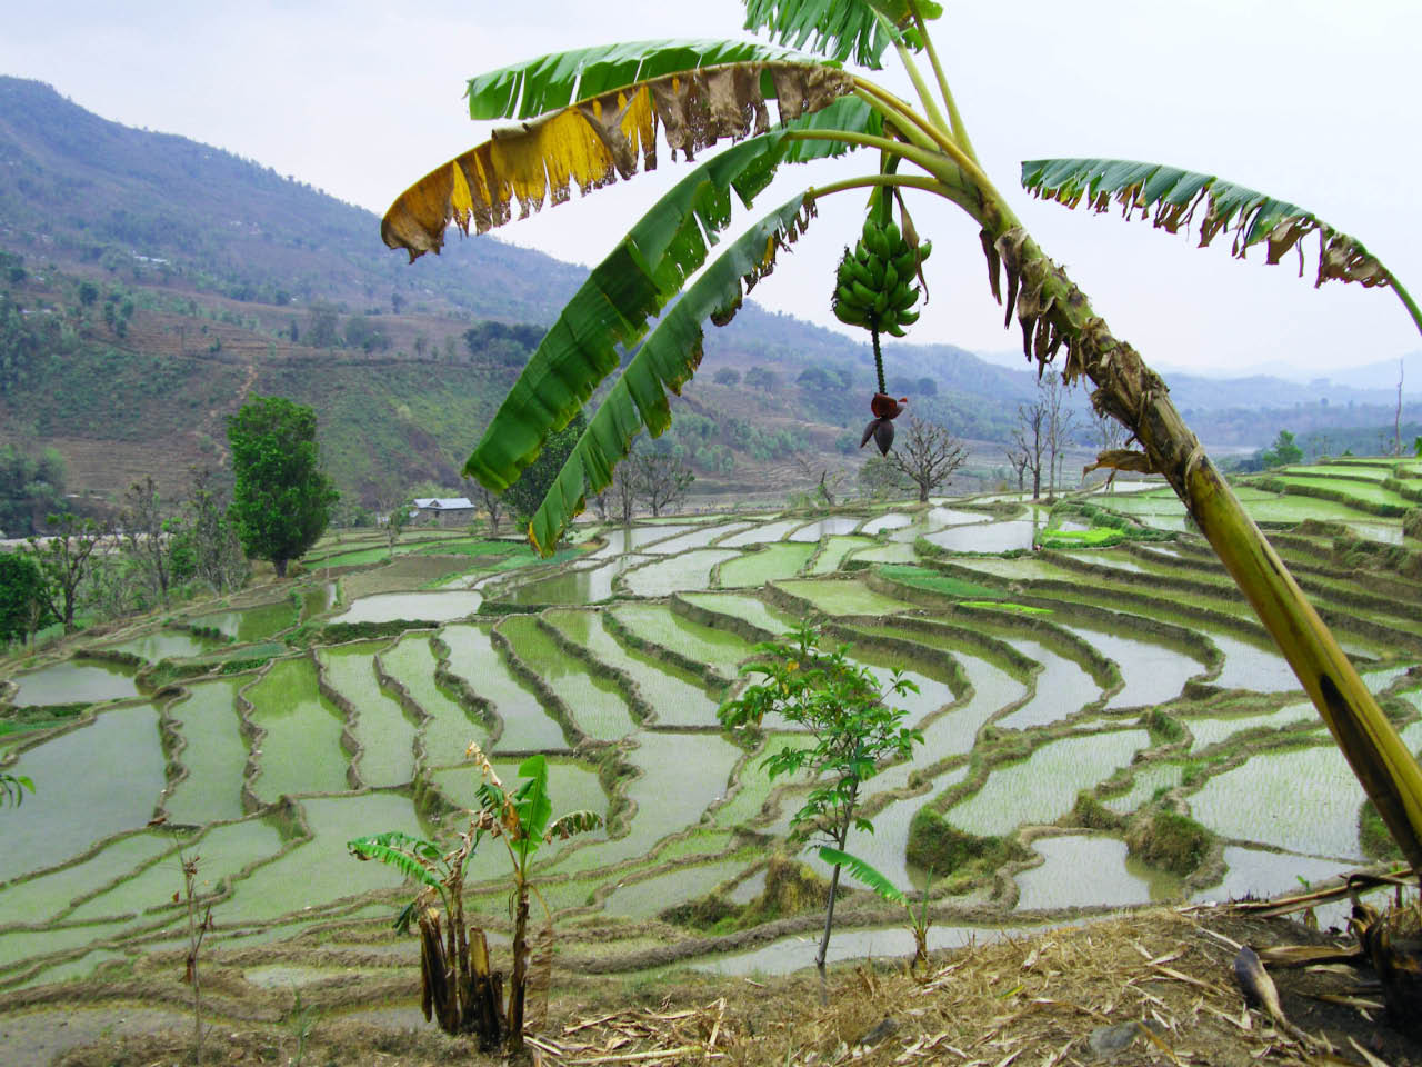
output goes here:
{"type": "MultiPolygon", "coordinates": [[[[1226,248],[1199,252],[1145,223],[1017,192],[1018,161],[1048,155],[1219,174],[1358,236],[1422,297],[1422,3],[948,0],[946,9],[934,40],[988,174],[1148,361],[1324,371],[1422,347],[1391,293],[1338,283],[1314,292],[1311,276],[1266,267],[1261,253],[1231,262],[1226,248]]],[[[586,44],[741,37],[741,20],[734,0],[9,0],[0,73],[48,81],[105,118],[215,144],[383,212],[404,186],[486,137],[461,100],[469,75],[586,44]]],[[[896,70],[883,77],[907,95],[896,70]]],[[[663,159],[660,172],[600,191],[596,203],[574,196],[496,235],[594,263],[644,198],[684,172],[665,152],[663,159]]],[[[757,208],[835,174],[786,168],[757,208]]],[[[931,303],[912,339],[1018,347],[1015,324],[1003,330],[984,285],[973,225],[934,198],[912,208],[936,245],[931,303]]],[[[830,265],[860,209],[860,193],[823,201],[795,255],[755,297],[835,326],[830,265]]],[[[220,218],[220,205],[213,211],[220,218]]],[[[441,263],[425,258],[411,269],[441,263]]]]}

